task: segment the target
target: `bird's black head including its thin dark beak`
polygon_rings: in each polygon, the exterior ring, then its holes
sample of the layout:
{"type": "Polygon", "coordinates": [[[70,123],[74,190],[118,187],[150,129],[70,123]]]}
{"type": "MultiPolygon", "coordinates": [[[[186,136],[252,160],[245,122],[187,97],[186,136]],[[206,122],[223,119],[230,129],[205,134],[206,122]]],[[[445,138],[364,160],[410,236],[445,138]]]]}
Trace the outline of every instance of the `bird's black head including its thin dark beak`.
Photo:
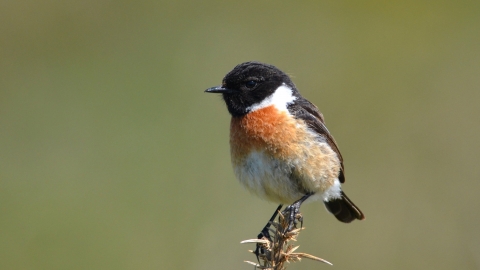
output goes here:
{"type": "Polygon", "coordinates": [[[221,93],[230,114],[242,116],[248,113],[248,107],[263,101],[282,84],[297,92],[288,75],[278,68],[260,62],[245,62],[225,75],[221,86],[205,92],[221,93]]]}

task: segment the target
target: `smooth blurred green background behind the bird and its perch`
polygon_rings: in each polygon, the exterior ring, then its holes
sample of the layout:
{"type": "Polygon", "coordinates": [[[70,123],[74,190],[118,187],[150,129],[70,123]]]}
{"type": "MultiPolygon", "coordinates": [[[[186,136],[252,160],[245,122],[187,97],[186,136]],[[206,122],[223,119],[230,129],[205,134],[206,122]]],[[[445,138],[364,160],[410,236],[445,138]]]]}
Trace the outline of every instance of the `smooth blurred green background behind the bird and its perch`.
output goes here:
{"type": "Polygon", "coordinates": [[[289,269],[480,269],[479,1],[2,1],[0,269],[252,269],[218,85],[292,75],[367,219],[289,269]]]}

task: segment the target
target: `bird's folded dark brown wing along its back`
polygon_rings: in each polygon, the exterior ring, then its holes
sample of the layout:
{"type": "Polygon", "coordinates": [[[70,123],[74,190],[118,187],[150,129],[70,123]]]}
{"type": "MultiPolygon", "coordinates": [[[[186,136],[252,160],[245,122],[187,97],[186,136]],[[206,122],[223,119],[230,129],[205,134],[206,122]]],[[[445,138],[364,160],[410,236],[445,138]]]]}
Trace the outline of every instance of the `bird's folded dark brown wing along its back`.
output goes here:
{"type": "Polygon", "coordinates": [[[337,153],[338,159],[340,160],[341,170],[338,176],[338,180],[340,183],[345,182],[345,169],[343,167],[343,157],[340,154],[340,150],[338,150],[337,143],[335,139],[328,131],[327,127],[325,126],[325,121],[323,119],[322,113],[318,110],[317,106],[313,105],[310,101],[298,97],[294,103],[288,106],[288,110],[290,113],[297,119],[302,119],[307,123],[308,127],[310,127],[313,131],[318,133],[322,140],[325,140],[328,145],[332,148],[335,153],[337,153]]]}

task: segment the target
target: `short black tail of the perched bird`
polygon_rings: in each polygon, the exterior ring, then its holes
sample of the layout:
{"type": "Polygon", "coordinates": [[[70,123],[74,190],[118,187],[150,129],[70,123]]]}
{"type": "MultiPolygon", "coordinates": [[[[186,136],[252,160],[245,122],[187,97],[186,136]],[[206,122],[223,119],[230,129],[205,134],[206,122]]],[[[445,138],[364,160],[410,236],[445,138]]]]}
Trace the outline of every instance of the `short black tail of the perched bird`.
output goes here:
{"type": "Polygon", "coordinates": [[[328,202],[324,202],[327,210],[332,213],[338,220],[345,223],[350,223],[355,219],[363,220],[365,216],[362,211],[358,209],[355,204],[343,193],[339,199],[333,199],[328,202]]]}

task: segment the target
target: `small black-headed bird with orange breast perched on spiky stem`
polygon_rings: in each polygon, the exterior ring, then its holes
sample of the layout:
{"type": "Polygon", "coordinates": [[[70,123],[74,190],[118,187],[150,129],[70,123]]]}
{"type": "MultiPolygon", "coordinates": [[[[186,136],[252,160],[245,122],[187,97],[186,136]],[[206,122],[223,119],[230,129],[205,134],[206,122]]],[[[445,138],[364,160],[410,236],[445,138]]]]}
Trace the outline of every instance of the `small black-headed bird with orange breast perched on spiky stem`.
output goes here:
{"type": "Polygon", "coordinates": [[[295,220],[307,200],[322,201],[343,223],[365,219],[342,190],[343,157],[322,113],[300,95],[285,72],[262,62],[244,62],[228,72],[220,86],[205,92],[221,94],[231,115],[235,176],[251,193],[280,204],[270,221],[284,204],[295,220]]]}

